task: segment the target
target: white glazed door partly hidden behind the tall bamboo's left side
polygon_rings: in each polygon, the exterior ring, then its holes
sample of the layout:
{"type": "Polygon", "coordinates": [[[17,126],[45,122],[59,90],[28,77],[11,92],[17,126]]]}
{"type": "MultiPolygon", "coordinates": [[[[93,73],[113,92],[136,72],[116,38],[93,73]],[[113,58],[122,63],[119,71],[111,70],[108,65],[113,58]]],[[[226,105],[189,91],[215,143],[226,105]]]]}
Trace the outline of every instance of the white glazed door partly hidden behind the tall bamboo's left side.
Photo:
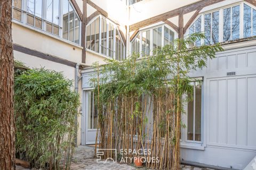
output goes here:
{"type": "Polygon", "coordinates": [[[83,129],[85,130],[85,135],[82,135],[82,145],[95,144],[97,127],[98,127],[98,110],[97,105],[95,105],[94,92],[92,90],[84,90],[84,107],[83,107],[83,117],[82,117],[82,134],[83,129]],[[84,141],[84,142],[83,142],[84,141]]]}

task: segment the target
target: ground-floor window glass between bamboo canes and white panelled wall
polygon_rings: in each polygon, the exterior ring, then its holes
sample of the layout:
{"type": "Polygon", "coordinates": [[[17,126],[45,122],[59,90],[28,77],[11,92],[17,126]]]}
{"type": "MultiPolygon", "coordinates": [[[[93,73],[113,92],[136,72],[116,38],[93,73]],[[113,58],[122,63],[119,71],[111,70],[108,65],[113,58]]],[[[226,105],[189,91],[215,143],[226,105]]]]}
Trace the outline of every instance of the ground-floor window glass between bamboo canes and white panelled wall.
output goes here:
{"type": "Polygon", "coordinates": [[[193,100],[188,103],[187,139],[201,141],[202,81],[191,82],[194,87],[193,100]]]}

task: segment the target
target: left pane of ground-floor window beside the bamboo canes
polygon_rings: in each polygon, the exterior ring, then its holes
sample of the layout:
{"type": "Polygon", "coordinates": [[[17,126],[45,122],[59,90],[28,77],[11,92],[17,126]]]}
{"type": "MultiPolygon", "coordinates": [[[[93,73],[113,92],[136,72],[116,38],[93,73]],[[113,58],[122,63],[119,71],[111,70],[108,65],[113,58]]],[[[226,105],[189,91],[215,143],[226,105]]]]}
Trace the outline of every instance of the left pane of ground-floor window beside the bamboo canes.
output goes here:
{"type": "MultiPolygon", "coordinates": [[[[194,86],[194,82],[191,82],[191,85],[194,86]]],[[[187,131],[188,131],[188,140],[194,140],[193,139],[193,133],[194,133],[194,92],[191,94],[191,97],[193,99],[189,101],[188,103],[188,125],[187,125],[187,131]]]]}

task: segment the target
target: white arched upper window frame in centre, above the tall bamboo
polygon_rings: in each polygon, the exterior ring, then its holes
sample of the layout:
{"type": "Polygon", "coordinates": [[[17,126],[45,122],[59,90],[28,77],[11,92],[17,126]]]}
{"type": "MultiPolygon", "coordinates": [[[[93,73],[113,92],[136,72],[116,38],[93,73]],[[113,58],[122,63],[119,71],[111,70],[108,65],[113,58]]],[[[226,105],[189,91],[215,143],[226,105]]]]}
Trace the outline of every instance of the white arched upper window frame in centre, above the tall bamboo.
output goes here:
{"type": "Polygon", "coordinates": [[[129,42],[130,43],[130,46],[129,46],[129,54],[132,54],[132,43],[133,41],[137,38],[137,36],[140,34],[140,49],[139,49],[139,53],[140,53],[140,56],[142,56],[142,32],[147,32],[150,30],[150,52],[149,52],[149,55],[153,55],[153,30],[154,29],[158,29],[158,28],[162,28],[162,40],[161,40],[161,47],[164,46],[164,27],[168,28],[169,30],[171,30],[172,32],[174,32],[174,38],[173,39],[176,39],[178,38],[178,32],[176,32],[173,28],[171,28],[169,25],[167,24],[157,24],[157,25],[154,25],[154,27],[149,27],[149,28],[142,28],[138,31],[138,33],[133,37],[133,39],[129,42]]]}

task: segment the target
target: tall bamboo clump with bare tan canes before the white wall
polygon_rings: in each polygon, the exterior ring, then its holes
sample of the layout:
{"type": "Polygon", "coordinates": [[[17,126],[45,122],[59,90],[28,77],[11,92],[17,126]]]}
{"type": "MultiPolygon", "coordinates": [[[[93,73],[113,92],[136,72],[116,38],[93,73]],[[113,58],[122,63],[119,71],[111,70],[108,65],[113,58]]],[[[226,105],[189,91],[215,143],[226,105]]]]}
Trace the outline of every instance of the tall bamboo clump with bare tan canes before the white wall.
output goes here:
{"type": "Polygon", "coordinates": [[[132,149],[137,139],[137,149],[151,148],[160,158],[148,167],[179,169],[181,113],[193,92],[189,73],[223,50],[219,44],[189,48],[202,38],[195,33],[157,48],[153,56],[133,54],[123,62],[107,60],[100,68],[95,64],[98,78],[91,82],[98,87],[94,103],[99,109],[100,148],[132,149]]]}

